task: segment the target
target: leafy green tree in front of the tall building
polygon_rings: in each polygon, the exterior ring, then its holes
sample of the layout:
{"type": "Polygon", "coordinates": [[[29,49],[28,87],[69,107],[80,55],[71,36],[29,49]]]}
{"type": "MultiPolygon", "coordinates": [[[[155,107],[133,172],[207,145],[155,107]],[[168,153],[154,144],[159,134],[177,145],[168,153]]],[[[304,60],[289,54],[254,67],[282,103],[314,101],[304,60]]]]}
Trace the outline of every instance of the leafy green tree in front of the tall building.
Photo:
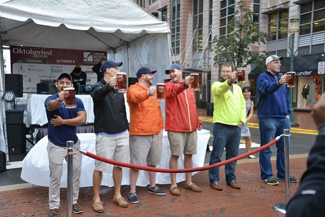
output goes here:
{"type": "Polygon", "coordinates": [[[234,64],[235,69],[253,63],[264,70],[266,52],[253,53],[251,50],[251,46],[265,44],[267,41],[267,34],[260,31],[259,25],[253,21],[255,15],[243,0],[236,4],[234,17],[227,24],[228,30],[233,32],[213,38],[211,50],[216,54],[215,63],[225,58],[234,64]]]}

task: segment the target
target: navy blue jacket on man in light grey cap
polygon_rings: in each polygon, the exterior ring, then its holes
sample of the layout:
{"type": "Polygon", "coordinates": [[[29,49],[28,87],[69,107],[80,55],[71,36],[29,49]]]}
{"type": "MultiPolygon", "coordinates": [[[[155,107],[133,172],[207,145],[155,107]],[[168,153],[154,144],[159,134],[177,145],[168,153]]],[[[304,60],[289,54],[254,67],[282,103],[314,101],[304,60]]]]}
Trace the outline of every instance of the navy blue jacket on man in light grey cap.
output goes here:
{"type": "Polygon", "coordinates": [[[290,115],[290,101],[286,85],[278,86],[277,81],[281,76],[273,75],[265,70],[256,81],[258,97],[258,117],[286,117],[290,115]]]}

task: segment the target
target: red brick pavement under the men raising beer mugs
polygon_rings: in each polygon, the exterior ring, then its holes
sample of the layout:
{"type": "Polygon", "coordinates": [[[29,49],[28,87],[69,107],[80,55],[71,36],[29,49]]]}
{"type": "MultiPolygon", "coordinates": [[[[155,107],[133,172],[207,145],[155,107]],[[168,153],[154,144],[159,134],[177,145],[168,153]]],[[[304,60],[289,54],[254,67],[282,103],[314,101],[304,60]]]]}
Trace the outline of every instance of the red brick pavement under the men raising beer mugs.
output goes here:
{"type": "MultiPolygon", "coordinates": [[[[272,161],[275,168],[275,161],[272,161]]],[[[290,160],[291,174],[297,178],[306,169],[306,158],[290,160]]],[[[275,170],[274,170],[275,172],[275,170]]],[[[129,203],[129,207],[121,208],[114,204],[113,188],[102,186],[101,200],[105,211],[98,214],[92,209],[92,187],[81,188],[79,204],[82,214],[74,217],[283,217],[273,210],[276,203],[285,202],[285,184],[271,186],[260,182],[260,169],[257,160],[245,159],[236,167],[237,181],[242,188],[236,190],[225,184],[224,166],[220,168],[220,181],[223,191],[216,191],[209,185],[208,172],[202,171],[193,177],[193,182],[202,187],[201,193],[184,189],[184,182],[179,183],[181,196],[172,196],[168,185],[162,185],[165,196],[157,196],[146,192],[145,187],[137,187],[139,203],[129,203]],[[251,162],[251,163],[245,163],[251,162]]],[[[291,184],[291,195],[298,184],[291,184]]],[[[129,186],[122,186],[121,193],[127,197],[129,186]]],[[[62,217],[66,216],[66,190],[61,190],[62,217]]],[[[0,194],[1,217],[44,217],[48,216],[48,188],[31,187],[2,191],[0,194]]]]}

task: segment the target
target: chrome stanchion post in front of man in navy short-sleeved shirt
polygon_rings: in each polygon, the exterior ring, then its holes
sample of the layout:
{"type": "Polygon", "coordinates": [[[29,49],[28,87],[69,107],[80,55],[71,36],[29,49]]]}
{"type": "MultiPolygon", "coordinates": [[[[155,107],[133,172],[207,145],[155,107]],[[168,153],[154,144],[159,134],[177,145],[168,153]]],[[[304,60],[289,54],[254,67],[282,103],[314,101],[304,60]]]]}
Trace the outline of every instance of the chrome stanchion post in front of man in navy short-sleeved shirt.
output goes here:
{"type": "Polygon", "coordinates": [[[68,151],[67,156],[67,177],[66,177],[66,197],[67,197],[67,217],[72,217],[72,195],[73,195],[73,148],[74,142],[73,141],[66,141],[66,150],[68,151]]]}

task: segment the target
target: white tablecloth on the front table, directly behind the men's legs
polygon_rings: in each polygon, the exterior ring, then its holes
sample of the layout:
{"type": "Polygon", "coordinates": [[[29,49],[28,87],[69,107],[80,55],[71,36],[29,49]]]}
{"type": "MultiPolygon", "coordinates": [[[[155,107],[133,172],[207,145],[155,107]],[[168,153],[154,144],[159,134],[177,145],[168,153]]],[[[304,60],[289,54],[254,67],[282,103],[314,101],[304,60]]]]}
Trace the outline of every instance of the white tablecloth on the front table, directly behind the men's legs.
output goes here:
{"type": "MultiPolygon", "coordinates": [[[[210,131],[202,129],[197,131],[197,154],[193,155],[193,167],[203,167],[207,144],[210,138],[210,131]]],[[[96,154],[95,134],[77,134],[81,140],[81,149],[96,154]]],[[[23,160],[23,167],[21,170],[21,178],[31,184],[40,186],[49,186],[49,159],[47,152],[48,136],[43,137],[36,145],[28,152],[23,160]]],[[[162,138],[162,161],[158,168],[168,168],[170,158],[169,141],[167,132],[163,132],[162,138]]],[[[184,156],[179,157],[178,168],[184,168],[184,156]]],[[[93,158],[82,155],[81,163],[81,179],[80,187],[93,186],[93,170],[95,167],[95,160],[93,158]]],[[[66,187],[67,164],[64,162],[63,175],[61,179],[61,187],[66,187]]],[[[113,166],[110,173],[103,173],[102,185],[109,187],[114,186],[112,177],[113,166]]],[[[122,185],[130,184],[129,168],[123,168],[122,185]]],[[[195,172],[193,173],[195,174],[195,172]]],[[[185,173],[178,173],[177,182],[185,180],[185,173]]],[[[169,173],[156,173],[157,184],[170,184],[169,173]]],[[[149,178],[146,171],[140,170],[139,178],[137,180],[138,186],[146,186],[149,184],[149,178]]]]}

